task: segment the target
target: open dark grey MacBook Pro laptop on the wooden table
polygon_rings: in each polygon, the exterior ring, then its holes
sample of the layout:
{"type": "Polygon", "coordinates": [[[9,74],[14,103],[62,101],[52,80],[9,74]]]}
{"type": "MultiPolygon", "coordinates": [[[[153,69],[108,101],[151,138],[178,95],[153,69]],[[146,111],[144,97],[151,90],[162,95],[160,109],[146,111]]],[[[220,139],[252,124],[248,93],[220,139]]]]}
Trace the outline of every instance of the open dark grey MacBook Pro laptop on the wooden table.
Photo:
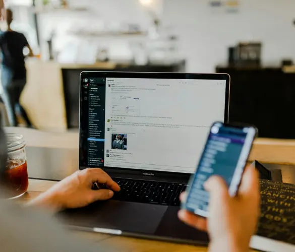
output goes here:
{"type": "Polygon", "coordinates": [[[105,202],[61,213],[82,230],[207,244],[177,217],[213,121],[228,121],[226,74],[82,72],[79,169],[121,186],[105,202]]]}

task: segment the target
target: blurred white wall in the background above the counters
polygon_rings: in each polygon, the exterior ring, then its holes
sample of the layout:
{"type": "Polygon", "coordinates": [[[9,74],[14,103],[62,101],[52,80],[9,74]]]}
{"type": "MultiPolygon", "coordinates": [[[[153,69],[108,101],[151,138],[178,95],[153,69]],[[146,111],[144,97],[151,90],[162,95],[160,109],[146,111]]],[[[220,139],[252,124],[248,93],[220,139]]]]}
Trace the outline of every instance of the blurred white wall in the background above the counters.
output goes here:
{"type": "MultiPolygon", "coordinates": [[[[43,40],[52,27],[60,35],[69,27],[88,25],[93,28],[107,23],[138,23],[148,28],[151,19],[138,0],[70,0],[70,4],[88,6],[90,13],[42,14],[40,30],[43,40]],[[103,20],[104,22],[100,22],[103,20]]],[[[279,65],[282,58],[295,60],[294,0],[240,0],[239,13],[216,12],[209,0],[165,0],[163,22],[171,25],[180,37],[180,51],[187,59],[188,72],[213,72],[226,64],[227,47],[238,41],[262,41],[264,65],[279,65]]],[[[63,37],[58,46],[74,38],[63,37]]],[[[113,44],[112,54],[130,56],[127,41],[105,41],[113,44]]]]}

